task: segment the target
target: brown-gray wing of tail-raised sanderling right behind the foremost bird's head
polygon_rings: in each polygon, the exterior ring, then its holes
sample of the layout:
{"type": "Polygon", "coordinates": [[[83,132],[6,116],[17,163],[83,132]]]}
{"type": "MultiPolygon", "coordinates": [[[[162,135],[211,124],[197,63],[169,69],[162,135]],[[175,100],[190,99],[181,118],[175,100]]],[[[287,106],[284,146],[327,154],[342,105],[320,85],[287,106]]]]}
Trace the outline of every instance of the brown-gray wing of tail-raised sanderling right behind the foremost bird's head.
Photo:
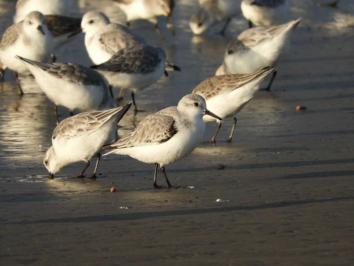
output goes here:
{"type": "Polygon", "coordinates": [[[205,100],[208,100],[218,94],[228,93],[238,89],[271,69],[271,67],[265,67],[251,74],[225,74],[208,78],[199,83],[192,94],[199,94],[203,96],[205,100]]]}

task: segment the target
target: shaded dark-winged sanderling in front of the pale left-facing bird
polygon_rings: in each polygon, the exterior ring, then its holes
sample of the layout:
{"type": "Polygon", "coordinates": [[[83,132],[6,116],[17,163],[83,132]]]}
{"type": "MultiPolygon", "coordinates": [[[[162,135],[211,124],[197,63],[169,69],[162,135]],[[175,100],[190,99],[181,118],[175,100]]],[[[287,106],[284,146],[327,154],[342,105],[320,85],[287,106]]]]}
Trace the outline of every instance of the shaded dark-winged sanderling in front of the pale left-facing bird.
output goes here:
{"type": "Polygon", "coordinates": [[[166,53],[162,48],[147,44],[136,44],[118,51],[107,62],[91,66],[101,72],[110,84],[121,87],[118,100],[122,99],[125,91],[131,89],[135,112],[135,92],[143,90],[160,79],[167,67],[173,70],[181,69],[165,60],[166,53]]]}

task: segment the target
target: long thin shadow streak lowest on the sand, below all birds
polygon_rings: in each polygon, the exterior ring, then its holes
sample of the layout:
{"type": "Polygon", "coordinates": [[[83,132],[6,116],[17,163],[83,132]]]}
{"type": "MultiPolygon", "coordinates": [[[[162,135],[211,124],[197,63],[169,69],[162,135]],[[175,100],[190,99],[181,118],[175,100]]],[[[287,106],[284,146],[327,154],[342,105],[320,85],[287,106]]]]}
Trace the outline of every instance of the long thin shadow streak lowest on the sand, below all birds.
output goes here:
{"type": "Polygon", "coordinates": [[[165,216],[179,216],[179,215],[196,215],[196,214],[210,214],[216,212],[230,212],[230,211],[252,211],[270,208],[298,206],[311,203],[323,203],[338,200],[353,200],[354,197],[338,197],[330,199],[310,199],[310,200],[296,200],[296,201],[281,201],[279,203],[266,203],[256,206],[230,206],[218,208],[204,208],[193,210],[172,210],[172,211],[149,211],[149,212],[135,212],[131,214],[114,214],[114,215],[96,215],[74,218],[55,218],[38,221],[21,221],[21,222],[7,222],[6,224],[13,225],[28,225],[38,223],[84,223],[84,222],[112,222],[112,221],[129,221],[139,220],[145,218],[156,218],[165,216]]]}

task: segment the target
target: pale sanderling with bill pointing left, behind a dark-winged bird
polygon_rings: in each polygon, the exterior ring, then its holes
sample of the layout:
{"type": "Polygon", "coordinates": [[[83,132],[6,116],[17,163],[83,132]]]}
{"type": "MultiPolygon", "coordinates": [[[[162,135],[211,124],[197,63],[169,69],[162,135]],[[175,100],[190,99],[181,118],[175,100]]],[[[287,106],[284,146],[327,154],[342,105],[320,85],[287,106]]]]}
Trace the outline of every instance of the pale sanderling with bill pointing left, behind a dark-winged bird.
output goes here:
{"type": "Polygon", "coordinates": [[[102,12],[90,11],[82,17],[81,27],[69,38],[79,32],[85,33],[85,46],[92,62],[99,65],[108,61],[116,52],[144,39],[127,27],[111,23],[102,12]]]}

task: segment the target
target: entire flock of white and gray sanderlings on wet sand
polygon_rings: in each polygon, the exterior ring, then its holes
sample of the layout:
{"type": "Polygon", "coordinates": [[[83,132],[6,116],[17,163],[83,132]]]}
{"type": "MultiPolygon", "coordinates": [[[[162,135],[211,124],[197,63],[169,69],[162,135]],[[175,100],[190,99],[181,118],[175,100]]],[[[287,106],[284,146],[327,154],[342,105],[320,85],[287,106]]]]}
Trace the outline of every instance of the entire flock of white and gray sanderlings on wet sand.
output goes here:
{"type": "MultiPolygon", "coordinates": [[[[196,1],[196,0],[195,0],[196,1]]],[[[259,89],[270,90],[277,64],[289,50],[290,38],[301,18],[279,25],[279,16],[289,9],[288,0],[199,0],[199,10],[190,19],[194,34],[203,34],[216,23],[224,23],[225,34],[232,18],[241,13],[249,24],[228,44],[216,76],[202,81],[179,100],[145,117],[130,133],[118,136],[117,125],[131,103],[120,106],[130,90],[134,112],[138,112],[135,94],[156,83],[166,70],[181,71],[168,61],[164,49],[149,45],[130,29],[134,20],[154,24],[163,38],[156,17],[165,16],[173,35],[173,0],[112,0],[126,14],[126,26],[110,22],[98,11],[82,18],[65,16],[73,0],[18,0],[14,24],[6,29],[0,42],[0,79],[6,69],[19,76],[32,74],[36,83],[54,104],[57,126],[52,146],[44,156],[44,166],[53,179],[63,167],[84,161],[77,176],[84,177],[90,159],[96,157],[92,176],[96,178],[101,154],[129,155],[154,164],[154,188],[173,187],[165,165],[190,154],[202,141],[206,123],[216,122],[215,143],[222,122],[233,118],[228,142],[232,142],[236,115],[259,89]],[[256,26],[256,27],[254,27],[256,26]],[[85,47],[93,62],[90,67],[72,62],[56,62],[56,49],[85,34],[85,47]],[[270,77],[264,88],[263,81],[270,77]],[[115,89],[120,92],[115,99],[115,89]],[[65,106],[70,116],[59,122],[57,107],[65,106]],[[81,113],[73,115],[74,110],[81,113]],[[167,186],[156,182],[160,167],[167,186]]],[[[178,23],[178,22],[177,22],[178,23]]],[[[178,32],[177,32],[178,37],[178,32]]],[[[176,38],[177,38],[176,37],[176,38]]],[[[59,59],[60,60],[60,59],[59,59]]]]}

